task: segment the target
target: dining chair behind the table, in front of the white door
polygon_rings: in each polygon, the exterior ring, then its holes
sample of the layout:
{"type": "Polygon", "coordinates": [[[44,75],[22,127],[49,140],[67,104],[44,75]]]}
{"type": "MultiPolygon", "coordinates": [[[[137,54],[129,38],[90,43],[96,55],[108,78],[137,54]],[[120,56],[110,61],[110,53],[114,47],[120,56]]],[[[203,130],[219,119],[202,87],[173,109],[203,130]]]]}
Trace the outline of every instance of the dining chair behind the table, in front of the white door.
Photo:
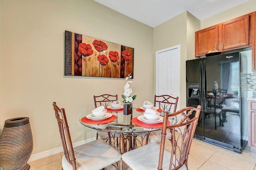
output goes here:
{"type": "MultiPolygon", "coordinates": [[[[155,95],[154,96],[154,107],[158,107],[163,111],[167,111],[169,114],[176,112],[179,97],[172,97],[170,95],[155,95]]],[[[171,137],[171,132],[166,132],[166,139],[171,137]]],[[[161,141],[161,130],[148,132],[148,134],[142,134],[142,141],[146,138],[146,144],[148,142],[160,143],[161,141]]]]}

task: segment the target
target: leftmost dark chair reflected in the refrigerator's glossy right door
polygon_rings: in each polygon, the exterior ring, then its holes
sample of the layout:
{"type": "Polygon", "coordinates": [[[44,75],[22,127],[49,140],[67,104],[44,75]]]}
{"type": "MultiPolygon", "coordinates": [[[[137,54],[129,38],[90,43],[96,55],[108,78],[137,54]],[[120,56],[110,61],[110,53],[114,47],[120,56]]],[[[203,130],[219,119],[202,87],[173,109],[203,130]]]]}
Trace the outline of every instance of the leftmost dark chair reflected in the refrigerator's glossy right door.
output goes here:
{"type": "Polygon", "coordinates": [[[210,121],[210,115],[214,116],[214,123],[215,123],[215,130],[217,129],[216,125],[216,117],[219,117],[220,119],[220,126],[223,125],[222,119],[220,117],[221,109],[217,108],[216,104],[216,91],[207,91],[206,94],[206,111],[204,112],[204,119],[207,119],[210,121]],[[213,95],[209,95],[209,93],[212,93],[213,95]]]}

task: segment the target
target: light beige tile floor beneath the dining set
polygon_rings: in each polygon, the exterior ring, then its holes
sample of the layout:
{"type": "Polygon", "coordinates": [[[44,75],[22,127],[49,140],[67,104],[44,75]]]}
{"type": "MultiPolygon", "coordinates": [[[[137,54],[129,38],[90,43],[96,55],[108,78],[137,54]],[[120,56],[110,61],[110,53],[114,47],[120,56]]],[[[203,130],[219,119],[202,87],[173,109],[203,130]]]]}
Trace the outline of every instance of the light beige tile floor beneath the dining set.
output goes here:
{"type": "MultiPolygon", "coordinates": [[[[61,170],[63,153],[28,162],[30,170],[61,170]]],[[[256,154],[244,149],[242,154],[193,139],[188,156],[189,170],[256,170],[256,154]]]]}

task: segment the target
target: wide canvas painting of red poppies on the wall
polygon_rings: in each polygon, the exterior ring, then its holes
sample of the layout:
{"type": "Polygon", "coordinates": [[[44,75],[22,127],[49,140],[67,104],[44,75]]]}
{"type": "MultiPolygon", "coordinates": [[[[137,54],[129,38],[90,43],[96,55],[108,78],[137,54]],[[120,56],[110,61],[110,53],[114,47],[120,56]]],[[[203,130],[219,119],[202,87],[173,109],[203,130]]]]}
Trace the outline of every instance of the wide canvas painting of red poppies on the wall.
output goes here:
{"type": "Polygon", "coordinates": [[[133,78],[134,49],[65,31],[64,75],[133,78]]]}

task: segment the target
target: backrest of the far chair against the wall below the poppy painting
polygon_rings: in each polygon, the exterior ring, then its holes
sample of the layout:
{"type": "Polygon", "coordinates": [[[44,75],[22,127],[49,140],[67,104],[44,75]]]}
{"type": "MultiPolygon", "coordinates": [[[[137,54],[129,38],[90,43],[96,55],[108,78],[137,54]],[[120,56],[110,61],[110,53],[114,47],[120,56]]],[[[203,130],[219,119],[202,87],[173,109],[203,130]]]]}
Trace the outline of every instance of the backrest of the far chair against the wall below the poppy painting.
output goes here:
{"type": "Polygon", "coordinates": [[[100,96],[94,95],[93,98],[94,98],[95,108],[99,106],[107,107],[111,105],[113,101],[117,101],[117,95],[108,95],[108,94],[104,94],[100,96]]]}

